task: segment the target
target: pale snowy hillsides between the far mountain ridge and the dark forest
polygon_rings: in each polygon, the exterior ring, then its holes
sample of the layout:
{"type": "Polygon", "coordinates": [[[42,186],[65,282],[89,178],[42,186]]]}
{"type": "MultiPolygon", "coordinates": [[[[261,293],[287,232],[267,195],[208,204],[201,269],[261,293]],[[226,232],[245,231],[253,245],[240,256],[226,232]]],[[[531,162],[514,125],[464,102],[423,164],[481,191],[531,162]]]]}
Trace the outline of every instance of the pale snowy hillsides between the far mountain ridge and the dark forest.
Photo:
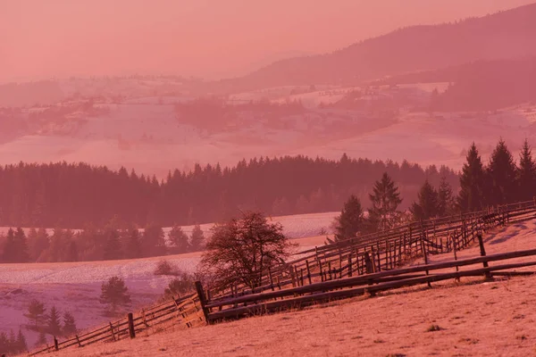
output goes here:
{"type": "MultiPolygon", "coordinates": [[[[379,87],[375,98],[406,95],[423,104],[444,84],[379,87]],[[401,94],[403,93],[403,94],[401,94]]],[[[536,106],[504,108],[498,112],[409,112],[404,107],[391,116],[374,111],[320,109],[318,104],[339,100],[354,87],[318,87],[291,94],[291,87],[232,95],[248,100],[268,97],[273,102],[299,99],[303,115],[265,119],[257,114],[218,131],[183,122],[174,104],[188,95],[133,96],[118,104],[98,104],[108,112],[57,124],[48,131],[20,134],[0,140],[0,162],[88,162],[165,178],[175,168],[190,170],[195,163],[235,165],[243,158],[285,154],[319,155],[339,159],[343,153],[372,160],[408,159],[423,165],[447,164],[461,168],[473,140],[484,159],[499,137],[517,157],[523,139],[536,145],[536,106]],[[256,115],[256,116],[255,116],[256,115]],[[418,134],[417,134],[418,133],[418,134]]],[[[303,90],[301,88],[300,90],[303,90]]],[[[2,133],[0,133],[0,139],[2,133]]]]}

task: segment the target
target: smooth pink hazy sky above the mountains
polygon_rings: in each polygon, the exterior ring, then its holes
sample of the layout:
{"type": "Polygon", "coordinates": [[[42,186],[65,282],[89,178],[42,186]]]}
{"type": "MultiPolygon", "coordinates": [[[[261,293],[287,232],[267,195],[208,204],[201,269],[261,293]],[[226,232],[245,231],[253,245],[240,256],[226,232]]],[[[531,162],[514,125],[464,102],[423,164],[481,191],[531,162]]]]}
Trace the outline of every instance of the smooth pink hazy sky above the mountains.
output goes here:
{"type": "Polygon", "coordinates": [[[402,26],[535,1],[0,0],[0,82],[131,73],[229,77],[402,26]]]}

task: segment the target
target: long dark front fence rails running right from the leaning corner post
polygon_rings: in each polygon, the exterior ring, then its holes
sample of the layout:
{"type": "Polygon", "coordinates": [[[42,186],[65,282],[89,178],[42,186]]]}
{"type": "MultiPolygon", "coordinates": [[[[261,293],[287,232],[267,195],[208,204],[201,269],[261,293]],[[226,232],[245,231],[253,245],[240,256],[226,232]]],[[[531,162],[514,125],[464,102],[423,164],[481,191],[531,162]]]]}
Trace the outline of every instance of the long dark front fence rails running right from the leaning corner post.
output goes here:
{"type": "MultiPolygon", "coordinates": [[[[507,261],[522,257],[536,257],[536,249],[518,252],[490,254],[476,258],[439,262],[434,264],[418,265],[396,270],[384,270],[353,278],[339,278],[331,281],[313,283],[306,286],[297,286],[277,291],[242,295],[235,298],[220,299],[204,302],[206,320],[214,322],[222,319],[234,319],[247,315],[261,314],[271,311],[281,311],[290,308],[301,308],[310,304],[325,303],[340,298],[356,295],[375,294],[376,292],[396,289],[404,286],[430,284],[441,280],[462,277],[482,276],[490,278],[495,272],[502,275],[512,270],[536,266],[536,258],[530,262],[510,262],[496,266],[489,266],[490,262],[507,261]],[[459,270],[470,265],[483,265],[483,267],[470,270],[459,270]],[[456,268],[456,271],[431,271],[456,268]],[[289,297],[286,299],[286,297],[289,297]],[[281,299],[281,300],[279,300],[281,299]]],[[[536,273],[536,272],[523,272],[536,273]]]]}

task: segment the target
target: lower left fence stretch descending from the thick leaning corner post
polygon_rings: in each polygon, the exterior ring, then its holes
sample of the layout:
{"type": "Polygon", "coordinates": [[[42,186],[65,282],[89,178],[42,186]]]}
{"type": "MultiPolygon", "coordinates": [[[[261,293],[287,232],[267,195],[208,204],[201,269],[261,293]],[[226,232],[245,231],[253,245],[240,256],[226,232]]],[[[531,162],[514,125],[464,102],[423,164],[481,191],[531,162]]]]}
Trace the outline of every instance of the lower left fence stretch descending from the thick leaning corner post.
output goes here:
{"type": "Polygon", "coordinates": [[[111,321],[102,328],[71,336],[61,342],[54,336],[54,345],[46,345],[46,348],[29,353],[29,355],[50,353],[72,346],[83,347],[97,342],[113,342],[124,338],[134,338],[138,333],[148,331],[149,328],[163,327],[166,322],[172,323],[173,326],[180,324],[185,328],[191,328],[199,322],[205,324],[201,309],[197,294],[174,298],[171,301],[138,311],[136,314],[129,313],[121,320],[111,321]]]}

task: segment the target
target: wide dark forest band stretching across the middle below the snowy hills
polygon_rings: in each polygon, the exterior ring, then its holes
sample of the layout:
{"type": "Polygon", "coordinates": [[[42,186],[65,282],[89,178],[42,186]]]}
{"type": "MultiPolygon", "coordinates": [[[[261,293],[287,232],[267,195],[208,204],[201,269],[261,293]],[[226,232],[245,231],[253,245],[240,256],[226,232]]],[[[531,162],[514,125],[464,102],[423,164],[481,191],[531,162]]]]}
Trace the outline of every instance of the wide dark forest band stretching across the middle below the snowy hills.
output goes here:
{"type": "MultiPolygon", "coordinates": [[[[365,199],[383,172],[398,182],[405,198],[415,200],[424,179],[445,177],[457,192],[453,170],[423,169],[402,162],[339,161],[304,156],[260,158],[235,167],[196,165],[175,170],[159,182],[125,169],[85,163],[50,163],[0,167],[0,226],[105,227],[110,220],[138,228],[227,220],[239,210],[271,215],[339,211],[348,195],[365,199]]],[[[406,204],[406,206],[404,206],[406,204]]]]}

